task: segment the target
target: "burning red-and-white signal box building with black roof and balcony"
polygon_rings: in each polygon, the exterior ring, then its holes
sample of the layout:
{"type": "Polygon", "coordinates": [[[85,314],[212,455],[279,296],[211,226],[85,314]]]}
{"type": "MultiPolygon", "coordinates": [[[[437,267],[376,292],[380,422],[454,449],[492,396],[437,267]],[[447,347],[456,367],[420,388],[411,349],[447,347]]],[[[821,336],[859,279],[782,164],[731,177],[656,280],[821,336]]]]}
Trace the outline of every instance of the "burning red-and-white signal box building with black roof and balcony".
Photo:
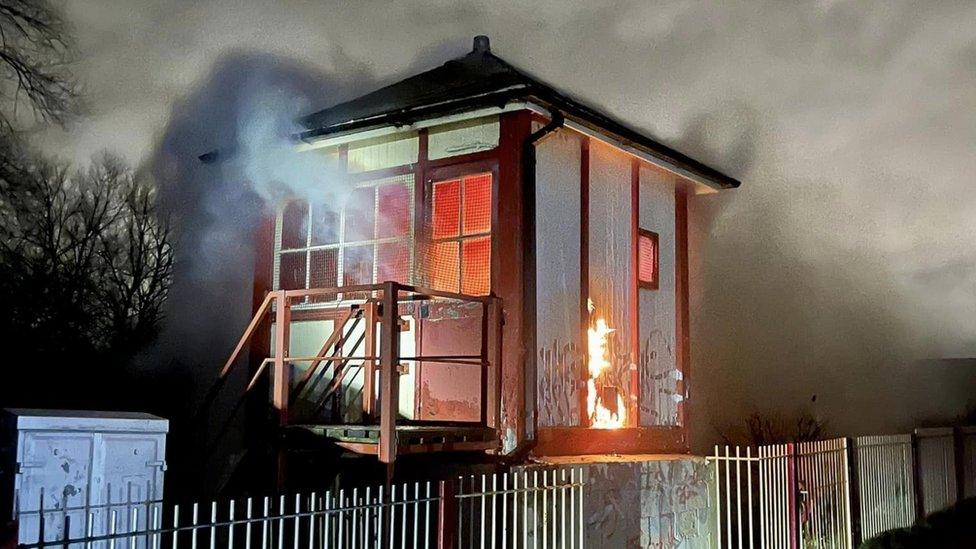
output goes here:
{"type": "Polygon", "coordinates": [[[286,440],[384,462],[688,451],[687,200],[738,181],[486,37],[301,122],[349,197],[286,197],[263,224],[222,373],[250,350],[286,440]]]}

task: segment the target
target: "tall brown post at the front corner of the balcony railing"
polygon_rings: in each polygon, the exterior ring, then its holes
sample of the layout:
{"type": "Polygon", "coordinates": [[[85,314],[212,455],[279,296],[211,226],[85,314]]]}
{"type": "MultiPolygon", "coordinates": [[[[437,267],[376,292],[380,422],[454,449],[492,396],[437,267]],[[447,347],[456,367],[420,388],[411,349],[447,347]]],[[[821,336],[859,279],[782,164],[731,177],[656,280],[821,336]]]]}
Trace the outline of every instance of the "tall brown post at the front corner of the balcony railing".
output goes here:
{"type": "Polygon", "coordinates": [[[383,463],[396,459],[396,416],[400,395],[400,323],[397,314],[396,282],[383,283],[380,309],[380,440],[379,458],[383,463]]]}

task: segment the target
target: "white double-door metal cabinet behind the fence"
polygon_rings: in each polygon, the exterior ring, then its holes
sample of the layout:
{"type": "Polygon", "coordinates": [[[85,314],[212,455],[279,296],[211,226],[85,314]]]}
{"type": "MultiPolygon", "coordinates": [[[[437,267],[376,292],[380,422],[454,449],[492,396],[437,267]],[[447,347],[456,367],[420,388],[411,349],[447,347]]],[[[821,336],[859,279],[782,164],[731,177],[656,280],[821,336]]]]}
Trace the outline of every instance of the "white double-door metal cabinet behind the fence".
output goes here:
{"type": "MultiPolygon", "coordinates": [[[[147,526],[163,496],[169,422],[142,413],[73,410],[4,411],[4,486],[13,488],[21,543],[71,537],[86,527],[108,533],[147,526]],[[10,462],[13,463],[10,463],[10,462]],[[89,521],[91,524],[89,525],[89,521]]],[[[5,495],[6,497],[6,495],[5,495]]],[[[7,514],[7,513],[5,513],[7,514]]],[[[7,514],[9,516],[9,514],[7,514]]]]}

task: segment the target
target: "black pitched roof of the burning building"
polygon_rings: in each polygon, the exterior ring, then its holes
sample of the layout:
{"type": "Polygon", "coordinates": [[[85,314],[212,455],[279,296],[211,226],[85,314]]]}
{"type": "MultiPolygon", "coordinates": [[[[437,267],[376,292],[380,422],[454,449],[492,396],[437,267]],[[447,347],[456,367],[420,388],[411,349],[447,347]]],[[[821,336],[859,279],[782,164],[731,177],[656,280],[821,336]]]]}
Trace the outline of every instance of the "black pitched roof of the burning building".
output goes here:
{"type": "Polygon", "coordinates": [[[340,103],[301,119],[308,128],[302,138],[417,120],[476,108],[503,107],[531,101],[560,111],[567,120],[608,134],[625,146],[665,160],[708,181],[716,188],[738,187],[739,181],[694,160],[576,101],[516,69],[491,53],[488,38],[478,36],[463,57],[340,103]]]}

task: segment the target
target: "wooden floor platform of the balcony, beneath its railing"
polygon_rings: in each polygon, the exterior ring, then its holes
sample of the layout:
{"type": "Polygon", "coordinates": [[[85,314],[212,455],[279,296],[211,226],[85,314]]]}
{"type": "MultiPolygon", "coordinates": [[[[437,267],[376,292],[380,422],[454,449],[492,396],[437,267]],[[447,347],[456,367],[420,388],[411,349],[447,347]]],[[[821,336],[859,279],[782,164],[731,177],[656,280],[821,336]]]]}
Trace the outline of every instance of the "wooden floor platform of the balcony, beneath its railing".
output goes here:
{"type": "MultiPolygon", "coordinates": [[[[291,448],[314,448],[335,444],[357,454],[377,455],[379,425],[290,424],[282,428],[291,448]]],[[[429,452],[471,452],[495,450],[498,436],[494,429],[477,425],[397,425],[397,454],[429,452]]]]}

